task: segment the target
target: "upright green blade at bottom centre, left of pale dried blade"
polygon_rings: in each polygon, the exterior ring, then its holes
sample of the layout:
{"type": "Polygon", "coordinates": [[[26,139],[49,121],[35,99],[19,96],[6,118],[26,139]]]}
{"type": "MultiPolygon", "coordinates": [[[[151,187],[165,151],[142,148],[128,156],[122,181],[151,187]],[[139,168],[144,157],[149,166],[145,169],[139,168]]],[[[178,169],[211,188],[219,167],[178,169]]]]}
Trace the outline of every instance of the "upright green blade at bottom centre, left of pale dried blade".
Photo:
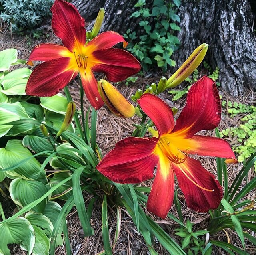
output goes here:
{"type": "Polygon", "coordinates": [[[104,243],[104,250],[106,255],[112,255],[112,249],[109,241],[108,233],[108,210],[107,210],[107,196],[104,195],[102,203],[102,237],[104,243]]]}

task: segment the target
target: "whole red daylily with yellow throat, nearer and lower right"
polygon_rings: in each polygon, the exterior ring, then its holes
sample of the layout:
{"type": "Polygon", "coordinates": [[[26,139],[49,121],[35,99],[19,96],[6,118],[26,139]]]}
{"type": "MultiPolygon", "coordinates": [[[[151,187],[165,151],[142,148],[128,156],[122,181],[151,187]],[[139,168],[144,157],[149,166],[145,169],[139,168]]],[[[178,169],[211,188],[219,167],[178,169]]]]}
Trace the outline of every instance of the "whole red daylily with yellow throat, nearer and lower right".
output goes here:
{"type": "Polygon", "coordinates": [[[188,156],[235,158],[225,140],[195,135],[220,123],[220,97],[214,81],[204,76],[190,87],[176,124],[170,107],[155,95],[144,94],[138,104],[154,122],[157,137],[118,142],[96,168],[114,182],[138,183],[152,178],[157,165],[147,209],[163,219],[172,205],[174,174],[189,208],[199,212],[217,208],[222,187],[198,160],[188,156]]]}

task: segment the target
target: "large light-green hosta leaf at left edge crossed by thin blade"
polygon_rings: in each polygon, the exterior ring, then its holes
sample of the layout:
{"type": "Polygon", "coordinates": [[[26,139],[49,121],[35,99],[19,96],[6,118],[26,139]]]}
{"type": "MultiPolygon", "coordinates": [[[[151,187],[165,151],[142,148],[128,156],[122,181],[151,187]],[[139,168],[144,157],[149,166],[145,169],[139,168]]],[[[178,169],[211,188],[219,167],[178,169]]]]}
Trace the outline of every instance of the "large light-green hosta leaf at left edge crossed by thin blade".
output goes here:
{"type": "MultiPolygon", "coordinates": [[[[24,148],[22,141],[9,140],[5,148],[0,148],[0,168],[8,168],[30,156],[32,153],[24,148]]],[[[45,180],[45,171],[40,172],[40,169],[41,164],[35,158],[30,158],[14,170],[4,173],[12,179],[21,177],[27,180],[45,180]]]]}

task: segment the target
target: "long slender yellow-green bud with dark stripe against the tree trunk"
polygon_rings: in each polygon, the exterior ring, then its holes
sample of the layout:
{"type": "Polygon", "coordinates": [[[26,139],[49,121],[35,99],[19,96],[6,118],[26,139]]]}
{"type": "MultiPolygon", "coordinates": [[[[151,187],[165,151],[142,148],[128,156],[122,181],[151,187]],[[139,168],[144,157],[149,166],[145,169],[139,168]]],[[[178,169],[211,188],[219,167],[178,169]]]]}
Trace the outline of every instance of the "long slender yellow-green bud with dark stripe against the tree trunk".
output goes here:
{"type": "Polygon", "coordinates": [[[203,43],[196,48],[182,66],[167,80],[166,88],[174,88],[184,81],[200,65],[208,49],[203,43]]]}

